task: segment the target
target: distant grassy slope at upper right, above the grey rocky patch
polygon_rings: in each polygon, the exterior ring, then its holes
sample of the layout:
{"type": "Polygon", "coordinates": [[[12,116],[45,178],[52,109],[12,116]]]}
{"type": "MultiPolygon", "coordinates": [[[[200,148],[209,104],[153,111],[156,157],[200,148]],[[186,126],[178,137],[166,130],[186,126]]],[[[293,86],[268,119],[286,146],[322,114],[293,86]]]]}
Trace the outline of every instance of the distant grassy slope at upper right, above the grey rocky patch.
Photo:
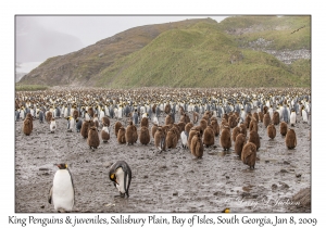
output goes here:
{"type": "Polygon", "coordinates": [[[238,38],[241,39],[240,45],[242,46],[246,46],[249,41],[254,41],[258,38],[264,38],[266,40],[273,40],[273,43],[268,47],[269,49],[311,49],[310,16],[227,17],[220,23],[220,27],[223,30],[229,31],[230,28],[248,28],[243,34],[238,35],[238,38]],[[291,34],[297,29],[299,30],[291,34]]]}

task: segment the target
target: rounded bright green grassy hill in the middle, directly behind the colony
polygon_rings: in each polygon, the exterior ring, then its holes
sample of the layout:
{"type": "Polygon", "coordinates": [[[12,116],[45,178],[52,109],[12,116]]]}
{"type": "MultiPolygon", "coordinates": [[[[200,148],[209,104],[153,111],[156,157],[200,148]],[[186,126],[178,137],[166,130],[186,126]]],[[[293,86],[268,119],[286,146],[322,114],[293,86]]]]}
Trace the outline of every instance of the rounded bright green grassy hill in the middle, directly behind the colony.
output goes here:
{"type": "Polygon", "coordinates": [[[98,86],[268,87],[306,86],[274,56],[240,50],[217,24],[198,23],[162,33],[147,47],[102,72],[98,86]],[[244,59],[230,64],[230,53],[244,59]]]}

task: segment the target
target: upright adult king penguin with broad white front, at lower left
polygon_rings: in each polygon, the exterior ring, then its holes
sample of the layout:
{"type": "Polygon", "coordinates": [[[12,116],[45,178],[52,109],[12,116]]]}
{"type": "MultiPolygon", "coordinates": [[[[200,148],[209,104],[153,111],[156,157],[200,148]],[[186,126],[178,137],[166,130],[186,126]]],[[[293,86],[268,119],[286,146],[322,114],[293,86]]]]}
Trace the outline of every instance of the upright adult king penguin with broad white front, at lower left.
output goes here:
{"type": "Polygon", "coordinates": [[[53,186],[50,189],[48,202],[53,202],[54,210],[58,212],[71,212],[75,202],[75,190],[72,174],[66,164],[57,164],[57,170],[53,178],[53,186]]]}

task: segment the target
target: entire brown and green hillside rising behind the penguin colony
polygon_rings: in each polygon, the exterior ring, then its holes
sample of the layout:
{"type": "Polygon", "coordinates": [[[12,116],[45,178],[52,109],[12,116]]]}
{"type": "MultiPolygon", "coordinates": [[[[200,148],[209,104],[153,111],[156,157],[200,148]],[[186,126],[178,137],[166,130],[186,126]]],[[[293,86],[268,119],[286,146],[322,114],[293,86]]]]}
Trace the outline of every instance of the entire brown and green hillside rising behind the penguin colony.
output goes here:
{"type": "Polygon", "coordinates": [[[286,64],[264,49],[311,50],[311,17],[233,16],[135,27],[50,58],[20,85],[310,87],[310,59],[286,64]]]}

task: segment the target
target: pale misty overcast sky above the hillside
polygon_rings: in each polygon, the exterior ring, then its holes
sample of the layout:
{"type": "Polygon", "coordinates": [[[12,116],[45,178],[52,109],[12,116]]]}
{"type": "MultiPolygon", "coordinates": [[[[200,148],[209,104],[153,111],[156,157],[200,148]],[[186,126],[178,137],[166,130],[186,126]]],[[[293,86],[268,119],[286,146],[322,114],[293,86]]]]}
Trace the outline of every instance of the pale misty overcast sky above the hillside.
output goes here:
{"type": "Polygon", "coordinates": [[[17,72],[28,73],[48,58],[77,51],[133,27],[206,17],[221,22],[226,16],[16,15],[17,72]]]}

